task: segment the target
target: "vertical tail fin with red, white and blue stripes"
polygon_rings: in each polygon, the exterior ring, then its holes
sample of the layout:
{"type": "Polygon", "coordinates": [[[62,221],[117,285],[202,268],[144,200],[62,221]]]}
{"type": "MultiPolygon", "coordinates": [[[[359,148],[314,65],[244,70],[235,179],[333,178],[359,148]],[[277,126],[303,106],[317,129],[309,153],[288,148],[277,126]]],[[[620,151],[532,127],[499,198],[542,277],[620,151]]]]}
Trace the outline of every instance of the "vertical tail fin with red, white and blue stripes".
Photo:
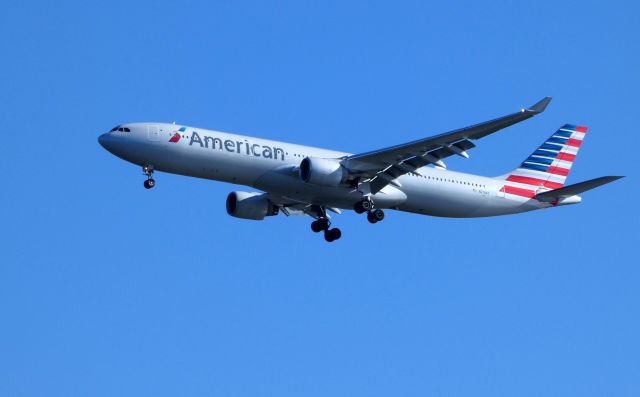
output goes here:
{"type": "Polygon", "coordinates": [[[565,124],[533,152],[520,167],[502,176],[502,191],[533,198],[540,190],[564,186],[587,127],[565,124]]]}

